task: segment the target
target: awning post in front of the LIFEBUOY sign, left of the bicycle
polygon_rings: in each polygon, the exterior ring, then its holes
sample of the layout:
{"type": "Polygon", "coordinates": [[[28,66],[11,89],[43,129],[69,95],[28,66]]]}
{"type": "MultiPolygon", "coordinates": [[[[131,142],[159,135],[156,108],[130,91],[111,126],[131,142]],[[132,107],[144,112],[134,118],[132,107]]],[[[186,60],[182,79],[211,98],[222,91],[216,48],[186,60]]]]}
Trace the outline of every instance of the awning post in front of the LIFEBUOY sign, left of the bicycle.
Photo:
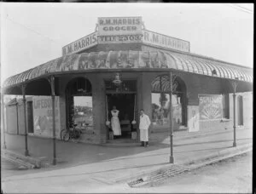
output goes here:
{"type": "Polygon", "coordinates": [[[55,77],[49,77],[52,103],[52,131],[53,131],[53,165],[56,165],[56,134],[55,134],[55,77]]]}

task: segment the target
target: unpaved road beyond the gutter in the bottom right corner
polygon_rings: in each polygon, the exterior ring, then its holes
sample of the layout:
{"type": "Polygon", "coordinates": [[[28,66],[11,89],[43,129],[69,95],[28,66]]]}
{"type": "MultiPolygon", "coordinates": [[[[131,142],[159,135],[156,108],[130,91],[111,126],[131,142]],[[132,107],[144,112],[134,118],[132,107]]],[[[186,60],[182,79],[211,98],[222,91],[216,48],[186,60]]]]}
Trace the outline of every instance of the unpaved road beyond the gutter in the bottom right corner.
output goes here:
{"type": "Polygon", "coordinates": [[[252,193],[252,157],[247,152],[140,188],[116,185],[89,192],[252,193]]]}

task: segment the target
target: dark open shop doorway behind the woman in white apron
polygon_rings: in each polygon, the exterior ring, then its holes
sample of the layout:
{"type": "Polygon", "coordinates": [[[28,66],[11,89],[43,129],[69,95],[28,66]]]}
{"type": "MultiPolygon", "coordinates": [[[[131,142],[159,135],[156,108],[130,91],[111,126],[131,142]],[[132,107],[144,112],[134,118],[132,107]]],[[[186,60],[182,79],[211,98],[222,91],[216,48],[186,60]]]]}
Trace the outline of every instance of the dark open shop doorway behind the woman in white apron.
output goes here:
{"type": "Polygon", "coordinates": [[[136,130],[131,124],[135,117],[135,98],[136,94],[107,94],[108,120],[111,121],[113,106],[119,110],[121,136],[118,139],[131,139],[131,132],[136,130]]]}

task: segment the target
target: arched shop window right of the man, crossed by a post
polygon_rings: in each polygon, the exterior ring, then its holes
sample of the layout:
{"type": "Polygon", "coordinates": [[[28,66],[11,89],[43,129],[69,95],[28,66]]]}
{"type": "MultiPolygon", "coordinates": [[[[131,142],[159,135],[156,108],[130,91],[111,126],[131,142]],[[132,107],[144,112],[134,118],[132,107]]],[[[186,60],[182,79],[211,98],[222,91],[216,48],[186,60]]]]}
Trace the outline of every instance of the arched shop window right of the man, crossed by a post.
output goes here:
{"type": "MultiPolygon", "coordinates": [[[[152,82],[152,123],[154,128],[170,127],[170,81],[168,75],[154,78],[152,82]]],[[[172,118],[173,128],[186,126],[185,85],[175,77],[172,85],[172,118]]]]}

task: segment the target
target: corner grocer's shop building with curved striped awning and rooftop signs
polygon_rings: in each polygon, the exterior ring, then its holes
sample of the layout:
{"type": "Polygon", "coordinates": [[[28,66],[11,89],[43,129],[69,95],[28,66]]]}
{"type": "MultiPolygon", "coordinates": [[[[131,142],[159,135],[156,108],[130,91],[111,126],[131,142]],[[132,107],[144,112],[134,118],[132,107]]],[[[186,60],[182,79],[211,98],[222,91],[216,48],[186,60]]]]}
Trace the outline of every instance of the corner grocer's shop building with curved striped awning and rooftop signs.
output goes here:
{"type": "MultiPolygon", "coordinates": [[[[121,139],[131,142],[139,141],[141,109],[152,121],[149,138],[170,128],[188,133],[251,128],[253,70],[191,54],[189,47],[188,41],[146,30],[141,17],[99,18],[96,31],[63,47],[61,58],[9,77],[4,94],[32,95],[32,134],[59,138],[61,129],[87,123],[84,143],[113,141],[108,124],[113,106],[120,111],[121,139]],[[45,98],[48,109],[55,100],[55,112],[43,111],[45,98]],[[87,106],[80,110],[76,99],[87,106]],[[44,127],[47,135],[39,132],[42,112],[51,120],[44,127]]],[[[28,119],[27,113],[24,123],[28,119]]]]}

